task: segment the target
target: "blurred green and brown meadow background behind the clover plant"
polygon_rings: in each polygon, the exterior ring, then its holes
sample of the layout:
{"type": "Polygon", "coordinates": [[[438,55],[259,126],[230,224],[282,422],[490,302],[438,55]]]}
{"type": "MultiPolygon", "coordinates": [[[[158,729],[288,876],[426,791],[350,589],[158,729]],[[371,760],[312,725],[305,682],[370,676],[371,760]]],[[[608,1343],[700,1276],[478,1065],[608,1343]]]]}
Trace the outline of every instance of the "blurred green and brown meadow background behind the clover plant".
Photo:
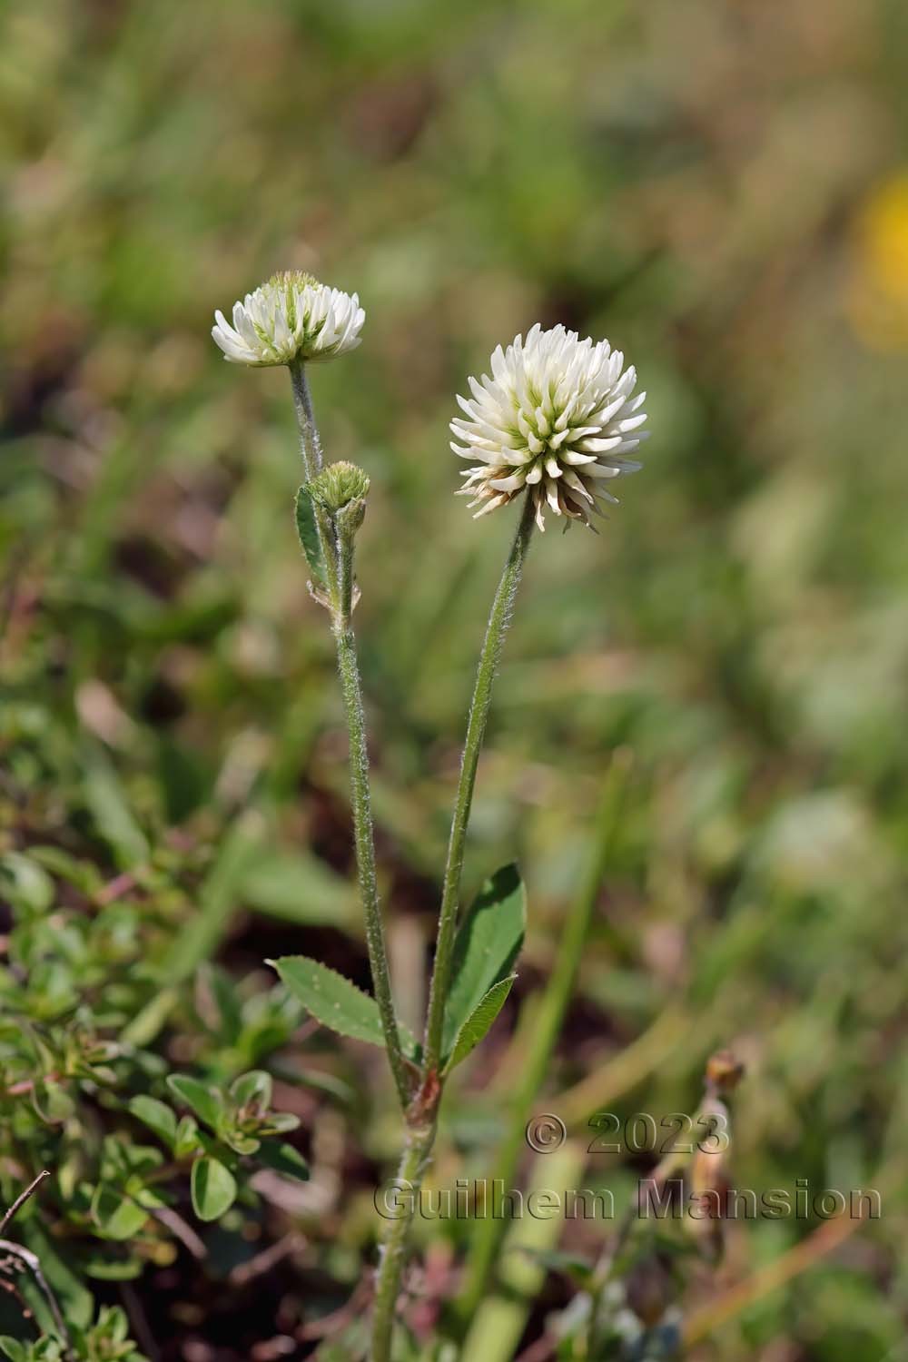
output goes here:
{"type": "MultiPolygon", "coordinates": [[[[221,959],[317,951],[365,982],[289,383],[208,335],[312,270],[368,317],[313,394],[372,477],[357,624],[415,1015],[510,534],[452,500],[455,394],[535,320],[637,365],[645,470],[599,538],[532,549],[467,880],[521,864],[525,998],[629,748],[546,1106],[604,1072],[622,1115],[692,1110],[730,1045],[736,1185],[885,1188],[879,1222],[708,1331],[721,1362],[908,1357],[907,54],[900,0],[0,8],[4,849],[113,877],[166,847],[180,878],[240,825],[261,854],[221,959]]],[[[506,1032],[451,1148],[482,1148],[506,1032]]],[[[395,1136],[338,1139],[381,1166],[395,1136]]],[[[732,1227],[687,1310],[815,1229],[732,1227]]]]}

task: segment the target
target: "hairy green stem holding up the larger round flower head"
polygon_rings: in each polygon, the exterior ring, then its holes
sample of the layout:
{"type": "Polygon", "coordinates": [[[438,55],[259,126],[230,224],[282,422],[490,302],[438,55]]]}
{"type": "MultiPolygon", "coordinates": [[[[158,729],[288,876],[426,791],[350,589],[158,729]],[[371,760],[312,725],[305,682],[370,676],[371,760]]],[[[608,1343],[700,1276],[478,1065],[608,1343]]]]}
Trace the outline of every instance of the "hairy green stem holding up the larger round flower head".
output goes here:
{"type": "Polygon", "coordinates": [[[530,496],[524,497],[523,512],[515,541],[505,563],[505,569],[498,583],[486,636],[479,654],[476,667],[476,684],[470,704],[470,718],[467,719],[467,737],[460,763],[460,779],[457,782],[457,795],[455,799],[453,817],[451,821],[451,839],[448,842],[448,862],[445,865],[444,887],[441,892],[441,913],[438,915],[438,941],[436,945],[436,966],[432,975],[432,990],[429,994],[429,1013],[426,1019],[425,1062],[423,1075],[429,1084],[437,1077],[441,1053],[441,1030],[444,1024],[445,1002],[451,985],[451,964],[455,944],[455,929],[457,926],[457,903],[460,898],[460,876],[463,873],[463,854],[467,840],[467,823],[472,805],[472,791],[476,783],[476,767],[479,752],[486,731],[489,707],[491,704],[491,688],[501,658],[501,647],[505,632],[510,621],[520,576],[523,572],[530,535],[534,526],[534,505],[530,496]]]}

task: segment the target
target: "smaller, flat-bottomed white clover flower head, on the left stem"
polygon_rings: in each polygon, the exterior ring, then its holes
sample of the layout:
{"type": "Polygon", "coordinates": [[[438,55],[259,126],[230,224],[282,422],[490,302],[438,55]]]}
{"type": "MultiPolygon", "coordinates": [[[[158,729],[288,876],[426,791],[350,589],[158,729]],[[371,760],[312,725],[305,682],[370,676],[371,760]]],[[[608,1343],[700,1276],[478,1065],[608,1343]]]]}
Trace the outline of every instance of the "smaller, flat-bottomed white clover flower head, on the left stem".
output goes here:
{"type": "Polygon", "coordinates": [[[354,293],[283,270],[233,305],[233,326],[215,312],[211,335],[231,364],[334,360],[355,350],[366,315],[354,293]]]}

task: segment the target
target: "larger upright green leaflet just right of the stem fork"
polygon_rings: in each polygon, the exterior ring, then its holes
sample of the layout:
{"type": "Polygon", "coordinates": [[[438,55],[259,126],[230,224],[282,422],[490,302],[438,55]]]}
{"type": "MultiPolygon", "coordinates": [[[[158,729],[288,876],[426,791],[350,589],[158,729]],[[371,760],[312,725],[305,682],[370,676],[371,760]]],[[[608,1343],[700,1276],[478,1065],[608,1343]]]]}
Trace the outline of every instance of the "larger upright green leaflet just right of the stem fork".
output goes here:
{"type": "Polygon", "coordinates": [[[494,983],[510,974],[527,926],[527,896],[516,865],[486,880],[455,941],[452,985],[441,1036],[451,1054],[457,1034],[494,983]]]}

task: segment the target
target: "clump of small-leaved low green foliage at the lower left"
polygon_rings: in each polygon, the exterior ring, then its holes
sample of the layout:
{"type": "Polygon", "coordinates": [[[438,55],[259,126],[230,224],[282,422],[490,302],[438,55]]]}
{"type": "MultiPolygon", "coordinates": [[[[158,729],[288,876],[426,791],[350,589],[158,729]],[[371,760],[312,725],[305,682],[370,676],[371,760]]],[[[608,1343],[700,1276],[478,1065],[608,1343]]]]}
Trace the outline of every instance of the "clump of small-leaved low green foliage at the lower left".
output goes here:
{"type": "MultiPolygon", "coordinates": [[[[257,1169],[308,1177],[287,1140],[298,1117],[274,1109],[267,1071],[241,1068],[286,1043],[301,1012],[280,989],[237,990],[206,967],[195,990],[169,997],[193,1051],[192,1071],[176,1071],[165,1030],[144,1045],[128,1031],[161,996],[148,948],[166,953],[177,923],[144,911],[128,885],[105,902],[91,862],[54,847],[8,854],[0,874],[15,911],[0,970],[0,1199],[10,1205],[49,1171],[10,1233],[38,1254],[78,1358],[127,1359],[123,1312],[90,1324],[101,1283],[172,1256],[181,1222],[191,1233],[193,1218],[219,1220],[237,1197],[248,1214],[257,1169]]],[[[35,1306],[44,1318],[39,1293],[35,1306]]],[[[48,1331],[4,1342],[7,1355],[56,1358],[53,1320],[48,1331]]]]}

